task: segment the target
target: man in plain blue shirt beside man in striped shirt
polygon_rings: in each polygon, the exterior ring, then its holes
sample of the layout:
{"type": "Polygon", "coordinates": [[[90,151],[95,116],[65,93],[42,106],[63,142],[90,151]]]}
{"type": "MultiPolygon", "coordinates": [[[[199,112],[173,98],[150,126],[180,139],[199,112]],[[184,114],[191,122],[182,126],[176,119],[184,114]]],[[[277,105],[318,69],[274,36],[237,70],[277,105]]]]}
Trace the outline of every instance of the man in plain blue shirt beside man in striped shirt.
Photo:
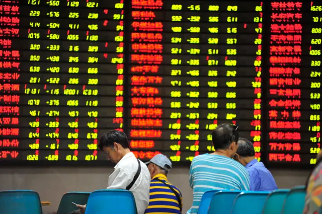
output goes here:
{"type": "Polygon", "coordinates": [[[262,162],[255,159],[255,150],[252,142],[248,139],[238,138],[238,149],[235,160],[243,164],[250,174],[250,190],[272,191],[277,189],[275,180],[262,162]]]}

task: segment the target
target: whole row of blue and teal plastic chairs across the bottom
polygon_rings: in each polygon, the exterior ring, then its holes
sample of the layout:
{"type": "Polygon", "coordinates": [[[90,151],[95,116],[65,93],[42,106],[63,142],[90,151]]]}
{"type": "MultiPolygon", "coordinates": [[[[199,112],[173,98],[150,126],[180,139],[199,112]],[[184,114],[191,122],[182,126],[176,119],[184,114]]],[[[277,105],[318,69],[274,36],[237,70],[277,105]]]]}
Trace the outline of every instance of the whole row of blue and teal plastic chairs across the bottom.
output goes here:
{"type": "MultiPolygon", "coordinates": [[[[304,198],[304,186],[273,192],[212,190],[202,196],[198,214],[301,214],[304,198]]],[[[136,214],[133,194],[127,190],[68,192],[61,198],[57,214],[77,209],[72,202],[87,204],[85,214],[136,214]]],[[[31,190],[0,191],[0,212],[42,214],[39,195],[31,190]]]]}

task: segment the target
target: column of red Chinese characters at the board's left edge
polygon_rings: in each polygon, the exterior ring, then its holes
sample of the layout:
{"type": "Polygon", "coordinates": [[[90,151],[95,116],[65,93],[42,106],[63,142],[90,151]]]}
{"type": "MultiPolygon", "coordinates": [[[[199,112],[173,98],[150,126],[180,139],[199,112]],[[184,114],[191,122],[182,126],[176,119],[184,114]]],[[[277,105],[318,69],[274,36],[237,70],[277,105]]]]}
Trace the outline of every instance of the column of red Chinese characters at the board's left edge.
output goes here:
{"type": "Polygon", "coordinates": [[[11,150],[20,144],[20,95],[16,95],[22,89],[16,84],[21,78],[20,51],[13,47],[13,38],[19,37],[19,10],[16,1],[8,0],[0,6],[0,160],[16,159],[19,155],[11,150]]]}

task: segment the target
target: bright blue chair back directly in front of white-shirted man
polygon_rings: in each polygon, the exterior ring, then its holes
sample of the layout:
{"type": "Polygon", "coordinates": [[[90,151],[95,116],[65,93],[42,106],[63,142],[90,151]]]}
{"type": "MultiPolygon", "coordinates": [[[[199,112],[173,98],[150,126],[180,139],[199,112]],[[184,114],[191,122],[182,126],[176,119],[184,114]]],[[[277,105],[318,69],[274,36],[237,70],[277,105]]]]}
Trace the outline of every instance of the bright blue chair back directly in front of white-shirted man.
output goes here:
{"type": "Polygon", "coordinates": [[[85,214],[136,214],[133,193],[121,189],[102,189],[90,194],[85,214]]]}

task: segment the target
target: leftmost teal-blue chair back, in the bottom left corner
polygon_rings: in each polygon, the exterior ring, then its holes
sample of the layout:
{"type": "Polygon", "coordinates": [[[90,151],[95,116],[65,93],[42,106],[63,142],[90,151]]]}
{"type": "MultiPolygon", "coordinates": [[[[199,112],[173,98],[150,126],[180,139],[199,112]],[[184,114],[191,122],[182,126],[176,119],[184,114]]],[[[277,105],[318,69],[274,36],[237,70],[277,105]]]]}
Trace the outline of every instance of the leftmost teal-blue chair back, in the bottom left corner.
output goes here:
{"type": "Polygon", "coordinates": [[[0,191],[0,212],[6,214],[42,214],[39,194],[32,190],[0,191]]]}

